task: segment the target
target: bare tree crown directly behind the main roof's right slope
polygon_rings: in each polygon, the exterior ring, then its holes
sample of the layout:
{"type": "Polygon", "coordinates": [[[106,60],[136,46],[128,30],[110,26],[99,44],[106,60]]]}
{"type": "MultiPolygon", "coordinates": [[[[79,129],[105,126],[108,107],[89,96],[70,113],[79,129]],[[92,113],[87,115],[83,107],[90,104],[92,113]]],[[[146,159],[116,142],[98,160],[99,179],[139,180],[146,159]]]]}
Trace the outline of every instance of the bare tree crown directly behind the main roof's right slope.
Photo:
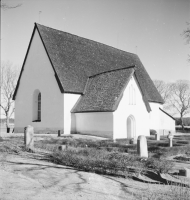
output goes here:
{"type": "Polygon", "coordinates": [[[164,102],[167,102],[167,100],[171,96],[171,90],[170,90],[171,84],[165,83],[164,81],[161,81],[161,80],[154,80],[153,82],[158,92],[162,96],[164,102]]]}

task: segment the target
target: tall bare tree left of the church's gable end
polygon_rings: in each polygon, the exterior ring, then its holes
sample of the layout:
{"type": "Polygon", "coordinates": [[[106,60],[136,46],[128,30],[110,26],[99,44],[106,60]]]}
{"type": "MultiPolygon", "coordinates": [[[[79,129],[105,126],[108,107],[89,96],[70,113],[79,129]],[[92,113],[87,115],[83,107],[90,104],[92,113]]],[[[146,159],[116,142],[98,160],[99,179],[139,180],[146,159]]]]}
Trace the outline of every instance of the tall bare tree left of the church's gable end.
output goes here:
{"type": "Polygon", "coordinates": [[[9,119],[14,113],[14,101],[12,100],[18,78],[18,70],[9,61],[1,65],[1,101],[0,107],[6,117],[6,127],[9,128],[9,119]]]}

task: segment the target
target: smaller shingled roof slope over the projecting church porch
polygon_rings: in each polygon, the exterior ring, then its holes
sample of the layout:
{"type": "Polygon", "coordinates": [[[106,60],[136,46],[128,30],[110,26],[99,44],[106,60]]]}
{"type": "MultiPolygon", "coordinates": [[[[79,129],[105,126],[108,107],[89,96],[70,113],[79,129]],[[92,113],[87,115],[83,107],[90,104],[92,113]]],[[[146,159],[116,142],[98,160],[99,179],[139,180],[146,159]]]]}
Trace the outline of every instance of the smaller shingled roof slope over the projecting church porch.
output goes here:
{"type": "Polygon", "coordinates": [[[80,97],[71,112],[115,111],[134,71],[134,67],[130,67],[89,77],[84,95],[80,97]]]}

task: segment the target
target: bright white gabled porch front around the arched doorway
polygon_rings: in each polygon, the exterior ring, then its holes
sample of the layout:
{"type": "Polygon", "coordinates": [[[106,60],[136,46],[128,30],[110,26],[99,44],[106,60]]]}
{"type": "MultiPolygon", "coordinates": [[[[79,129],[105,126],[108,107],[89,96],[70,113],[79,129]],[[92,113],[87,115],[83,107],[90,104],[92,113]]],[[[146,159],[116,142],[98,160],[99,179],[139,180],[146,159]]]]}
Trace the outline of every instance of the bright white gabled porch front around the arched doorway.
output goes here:
{"type": "Polygon", "coordinates": [[[114,139],[127,138],[127,118],[133,115],[136,124],[136,135],[150,135],[149,113],[142,99],[141,91],[134,77],[128,83],[118,109],[114,112],[114,139]],[[129,89],[133,85],[135,89],[135,105],[130,105],[129,89]]]}

